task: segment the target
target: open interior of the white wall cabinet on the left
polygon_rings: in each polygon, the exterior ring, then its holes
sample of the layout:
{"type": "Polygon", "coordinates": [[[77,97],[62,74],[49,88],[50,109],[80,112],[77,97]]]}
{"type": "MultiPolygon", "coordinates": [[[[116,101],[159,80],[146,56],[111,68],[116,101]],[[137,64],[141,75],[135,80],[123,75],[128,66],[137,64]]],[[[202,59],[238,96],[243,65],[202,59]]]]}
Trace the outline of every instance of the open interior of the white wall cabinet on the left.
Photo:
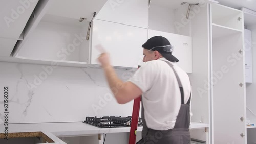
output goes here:
{"type": "Polygon", "coordinates": [[[16,58],[88,63],[89,43],[86,40],[88,21],[46,15],[23,43],[16,58]]]}

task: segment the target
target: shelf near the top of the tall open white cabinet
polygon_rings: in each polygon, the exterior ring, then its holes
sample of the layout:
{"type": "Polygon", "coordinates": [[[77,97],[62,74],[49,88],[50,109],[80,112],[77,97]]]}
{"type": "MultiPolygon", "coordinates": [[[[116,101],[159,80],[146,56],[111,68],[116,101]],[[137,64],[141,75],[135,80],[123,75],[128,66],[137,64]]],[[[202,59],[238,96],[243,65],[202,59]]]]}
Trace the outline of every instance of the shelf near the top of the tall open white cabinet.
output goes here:
{"type": "Polygon", "coordinates": [[[221,25],[217,25],[215,23],[212,23],[212,32],[213,32],[213,38],[220,38],[220,37],[225,37],[228,35],[233,35],[237,33],[242,33],[242,30],[238,29],[233,29],[221,25]]]}

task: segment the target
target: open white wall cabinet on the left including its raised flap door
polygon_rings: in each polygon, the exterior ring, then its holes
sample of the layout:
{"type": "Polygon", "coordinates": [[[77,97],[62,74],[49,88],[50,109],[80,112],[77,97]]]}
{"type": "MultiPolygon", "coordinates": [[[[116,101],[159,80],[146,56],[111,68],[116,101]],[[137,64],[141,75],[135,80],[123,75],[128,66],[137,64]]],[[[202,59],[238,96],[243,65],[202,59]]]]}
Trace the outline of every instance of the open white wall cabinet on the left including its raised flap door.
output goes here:
{"type": "Polygon", "coordinates": [[[106,0],[51,2],[39,2],[35,18],[30,19],[24,40],[17,43],[13,56],[35,64],[52,65],[57,62],[63,66],[86,67],[91,40],[91,36],[86,40],[89,21],[106,0]]]}

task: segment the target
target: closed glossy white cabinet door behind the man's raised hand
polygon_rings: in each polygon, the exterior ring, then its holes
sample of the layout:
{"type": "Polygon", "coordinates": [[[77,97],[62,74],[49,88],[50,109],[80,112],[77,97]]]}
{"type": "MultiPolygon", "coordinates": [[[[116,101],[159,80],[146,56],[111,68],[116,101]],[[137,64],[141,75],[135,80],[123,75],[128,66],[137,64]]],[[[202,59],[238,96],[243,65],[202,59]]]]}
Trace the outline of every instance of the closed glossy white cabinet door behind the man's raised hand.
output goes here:
{"type": "Polygon", "coordinates": [[[95,45],[101,44],[110,54],[113,66],[137,68],[143,59],[142,44],[147,29],[95,19],[93,21],[91,64],[99,64],[95,45]]]}

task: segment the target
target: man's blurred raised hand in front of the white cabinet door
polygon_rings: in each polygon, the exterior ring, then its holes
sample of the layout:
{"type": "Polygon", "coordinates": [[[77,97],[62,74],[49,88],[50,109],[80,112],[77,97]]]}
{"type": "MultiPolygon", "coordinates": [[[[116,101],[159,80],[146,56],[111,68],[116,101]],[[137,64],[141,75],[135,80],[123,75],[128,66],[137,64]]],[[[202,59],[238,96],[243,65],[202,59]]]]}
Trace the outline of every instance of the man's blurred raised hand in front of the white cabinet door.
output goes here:
{"type": "Polygon", "coordinates": [[[98,61],[100,62],[101,66],[104,68],[106,66],[110,66],[110,57],[109,54],[106,53],[105,49],[102,45],[96,45],[96,49],[100,51],[100,56],[98,57],[98,61]]]}

